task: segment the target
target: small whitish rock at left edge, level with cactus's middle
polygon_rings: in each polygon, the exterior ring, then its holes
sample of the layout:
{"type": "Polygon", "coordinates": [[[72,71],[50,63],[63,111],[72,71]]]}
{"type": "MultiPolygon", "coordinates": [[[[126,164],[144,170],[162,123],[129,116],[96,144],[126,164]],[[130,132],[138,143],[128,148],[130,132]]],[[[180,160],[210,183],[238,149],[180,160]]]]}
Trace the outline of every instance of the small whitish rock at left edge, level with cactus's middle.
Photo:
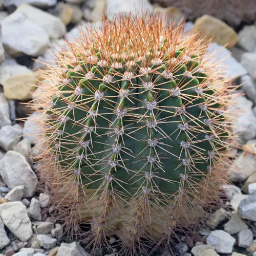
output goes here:
{"type": "Polygon", "coordinates": [[[22,137],[22,127],[18,124],[5,125],[0,129],[0,146],[5,151],[11,150],[11,148],[18,143],[22,137]]]}

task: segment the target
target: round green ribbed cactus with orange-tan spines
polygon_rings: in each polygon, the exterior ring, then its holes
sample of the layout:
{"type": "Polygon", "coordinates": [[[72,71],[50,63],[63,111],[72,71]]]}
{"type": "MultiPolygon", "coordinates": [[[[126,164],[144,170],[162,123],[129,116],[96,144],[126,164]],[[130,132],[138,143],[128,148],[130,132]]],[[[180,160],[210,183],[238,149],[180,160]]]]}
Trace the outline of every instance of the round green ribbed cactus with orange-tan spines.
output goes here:
{"type": "Polygon", "coordinates": [[[57,216],[73,233],[88,227],[93,252],[110,248],[111,235],[124,255],[169,245],[225,182],[230,81],[198,34],[159,16],[104,21],[69,47],[34,104],[38,173],[57,216]]]}

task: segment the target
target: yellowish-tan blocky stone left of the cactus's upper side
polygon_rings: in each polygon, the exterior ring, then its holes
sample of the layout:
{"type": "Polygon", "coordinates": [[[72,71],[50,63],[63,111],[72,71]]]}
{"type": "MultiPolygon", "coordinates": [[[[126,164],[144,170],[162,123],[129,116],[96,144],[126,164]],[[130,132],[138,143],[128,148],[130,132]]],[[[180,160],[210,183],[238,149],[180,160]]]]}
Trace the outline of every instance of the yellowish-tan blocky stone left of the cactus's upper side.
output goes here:
{"type": "Polygon", "coordinates": [[[27,100],[31,99],[31,93],[35,91],[37,74],[29,73],[9,77],[4,82],[4,94],[7,99],[27,100]]]}

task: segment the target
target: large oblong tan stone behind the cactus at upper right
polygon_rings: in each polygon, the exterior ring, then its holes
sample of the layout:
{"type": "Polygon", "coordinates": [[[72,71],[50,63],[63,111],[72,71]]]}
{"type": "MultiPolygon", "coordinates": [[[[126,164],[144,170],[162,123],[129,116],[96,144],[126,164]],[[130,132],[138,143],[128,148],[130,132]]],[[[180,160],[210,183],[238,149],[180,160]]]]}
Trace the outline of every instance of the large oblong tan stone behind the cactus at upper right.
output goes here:
{"type": "Polygon", "coordinates": [[[209,15],[203,15],[197,18],[194,29],[208,39],[213,37],[213,40],[219,45],[227,45],[227,48],[233,47],[238,41],[236,31],[222,20],[209,15]]]}

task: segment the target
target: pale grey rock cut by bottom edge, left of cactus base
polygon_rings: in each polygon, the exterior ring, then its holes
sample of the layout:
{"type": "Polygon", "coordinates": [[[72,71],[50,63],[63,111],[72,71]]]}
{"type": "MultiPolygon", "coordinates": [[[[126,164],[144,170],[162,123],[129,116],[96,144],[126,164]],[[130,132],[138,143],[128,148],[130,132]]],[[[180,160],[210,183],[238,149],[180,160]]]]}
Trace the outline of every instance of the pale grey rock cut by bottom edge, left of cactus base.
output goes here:
{"type": "Polygon", "coordinates": [[[61,243],[56,256],[91,256],[77,242],[61,243]]]}

